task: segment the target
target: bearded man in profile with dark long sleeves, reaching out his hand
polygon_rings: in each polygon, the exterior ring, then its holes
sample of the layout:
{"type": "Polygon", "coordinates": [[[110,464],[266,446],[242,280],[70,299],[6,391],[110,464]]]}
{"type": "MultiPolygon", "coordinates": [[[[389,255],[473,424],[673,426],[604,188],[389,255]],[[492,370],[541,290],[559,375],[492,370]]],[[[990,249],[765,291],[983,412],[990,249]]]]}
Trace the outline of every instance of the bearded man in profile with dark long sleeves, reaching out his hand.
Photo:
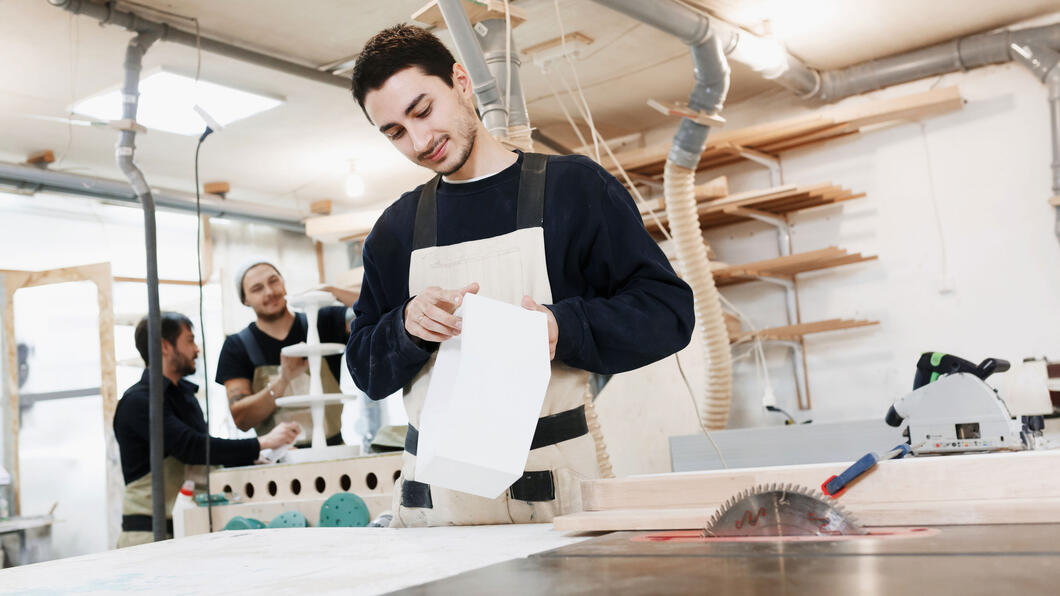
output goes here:
{"type": "MultiPolygon", "coordinates": [[[[173,534],[169,519],[180,486],[187,479],[205,483],[206,441],[209,430],[202,410],[195,399],[198,389],[183,378],[195,372],[198,346],[192,322],[179,313],[161,314],[162,319],[162,473],[165,487],[166,533],[173,534]],[[202,476],[200,478],[200,476],[202,476]]],[[[147,362],[147,318],[134,333],[137,350],[147,362]]],[[[118,547],[146,544],[152,533],[151,441],[148,431],[148,379],[143,371],[140,381],[129,387],[114,411],[114,438],[122,458],[125,495],[122,499],[122,533],[118,547]]],[[[289,444],[298,436],[296,423],[284,423],[260,438],[218,439],[209,437],[210,463],[248,466],[258,459],[263,449],[289,444]]]]}

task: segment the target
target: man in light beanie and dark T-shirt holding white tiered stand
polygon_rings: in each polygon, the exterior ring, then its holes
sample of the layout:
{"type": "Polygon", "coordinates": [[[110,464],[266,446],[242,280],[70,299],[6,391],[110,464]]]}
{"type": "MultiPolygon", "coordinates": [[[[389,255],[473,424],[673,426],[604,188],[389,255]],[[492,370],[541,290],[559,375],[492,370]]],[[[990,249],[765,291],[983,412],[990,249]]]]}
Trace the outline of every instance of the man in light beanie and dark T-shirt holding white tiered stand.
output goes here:
{"type": "MultiPolygon", "coordinates": [[[[305,341],[306,316],[287,308],[287,290],[283,276],[275,265],[264,260],[249,261],[235,274],[240,300],[250,306],[257,320],[244,330],[229,335],[217,358],[216,382],[225,385],[228,405],[235,425],[258,436],[268,433],[280,422],[295,421],[304,430],[305,441],[313,436],[310,409],[278,410],[276,400],[284,396],[308,392],[308,364],[305,358],[288,357],[280,350],[305,341]]],[[[357,299],[355,293],[325,287],[346,306],[324,306],[317,315],[317,331],[323,343],[346,344],[349,338],[347,313],[357,299]]],[[[338,379],[341,356],[326,356],[328,366],[320,368],[325,392],[339,392],[338,379]]],[[[340,434],[342,405],[324,409],[324,435],[328,444],[342,443],[340,434]]],[[[302,443],[306,444],[306,443],[302,443]]]]}

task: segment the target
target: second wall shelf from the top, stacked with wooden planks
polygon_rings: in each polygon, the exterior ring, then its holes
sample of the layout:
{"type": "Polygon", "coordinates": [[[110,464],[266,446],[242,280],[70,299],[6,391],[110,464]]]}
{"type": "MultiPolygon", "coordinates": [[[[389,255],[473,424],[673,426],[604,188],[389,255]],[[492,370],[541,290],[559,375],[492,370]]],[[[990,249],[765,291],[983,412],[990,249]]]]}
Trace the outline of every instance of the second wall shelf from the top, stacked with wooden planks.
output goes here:
{"type": "MultiPolygon", "coordinates": [[[[701,186],[707,187],[709,185],[711,182],[701,186]]],[[[696,187],[696,200],[701,199],[700,188],[696,187]]],[[[700,227],[708,229],[746,222],[752,218],[752,210],[768,215],[784,215],[792,211],[832,205],[863,196],[865,196],[865,193],[854,193],[853,191],[828,182],[812,187],[789,185],[773,189],[738,193],[724,198],[701,201],[699,206],[700,227]]],[[[664,225],[668,223],[665,206],[661,206],[660,210],[656,211],[656,215],[664,225]]],[[[655,218],[651,215],[644,216],[644,227],[653,234],[659,233],[658,224],[655,223],[655,218]]]]}

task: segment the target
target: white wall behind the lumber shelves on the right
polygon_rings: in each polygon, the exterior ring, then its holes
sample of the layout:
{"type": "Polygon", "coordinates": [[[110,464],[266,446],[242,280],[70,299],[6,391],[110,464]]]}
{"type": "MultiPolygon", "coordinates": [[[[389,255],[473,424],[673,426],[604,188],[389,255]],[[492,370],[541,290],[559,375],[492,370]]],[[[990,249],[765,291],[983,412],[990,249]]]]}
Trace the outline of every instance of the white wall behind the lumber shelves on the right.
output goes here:
{"type": "MultiPolygon", "coordinates": [[[[1023,67],[1004,65],[946,75],[849,103],[957,85],[957,112],[782,154],[785,183],[829,181],[862,199],[794,216],[796,252],[830,245],[879,261],[805,274],[803,321],[871,318],[879,327],[806,339],[812,411],[818,421],[883,416],[912,388],[924,351],[969,360],[1060,357],[1060,244],[1049,188],[1050,138],[1045,88],[1023,67]]],[[[727,128],[794,116],[777,93],[726,110],[727,128]]],[[[764,169],[740,164],[735,191],[765,188],[764,169]]],[[[747,223],[710,230],[720,260],[777,256],[772,228],[747,223]]],[[[782,292],[763,283],[723,290],[758,327],[785,325],[782,292]]],[[[790,353],[767,350],[779,405],[795,408],[790,353]]],[[[762,413],[752,361],[736,368],[730,426],[780,423],[762,413]]]]}

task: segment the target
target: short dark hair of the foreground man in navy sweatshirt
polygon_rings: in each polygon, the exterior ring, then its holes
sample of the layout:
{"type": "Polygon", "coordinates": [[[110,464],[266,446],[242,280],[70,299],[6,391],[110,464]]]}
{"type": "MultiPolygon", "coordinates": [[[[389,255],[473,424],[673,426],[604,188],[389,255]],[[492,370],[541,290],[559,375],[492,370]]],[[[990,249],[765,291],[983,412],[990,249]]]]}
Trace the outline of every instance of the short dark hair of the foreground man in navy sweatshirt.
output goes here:
{"type": "Polygon", "coordinates": [[[369,91],[379,89],[388,78],[409,67],[419,67],[424,74],[437,76],[453,87],[456,62],[448,48],[425,29],[405,23],[384,29],[365,43],[357,56],[353,67],[353,98],[364,111],[369,91]]]}

